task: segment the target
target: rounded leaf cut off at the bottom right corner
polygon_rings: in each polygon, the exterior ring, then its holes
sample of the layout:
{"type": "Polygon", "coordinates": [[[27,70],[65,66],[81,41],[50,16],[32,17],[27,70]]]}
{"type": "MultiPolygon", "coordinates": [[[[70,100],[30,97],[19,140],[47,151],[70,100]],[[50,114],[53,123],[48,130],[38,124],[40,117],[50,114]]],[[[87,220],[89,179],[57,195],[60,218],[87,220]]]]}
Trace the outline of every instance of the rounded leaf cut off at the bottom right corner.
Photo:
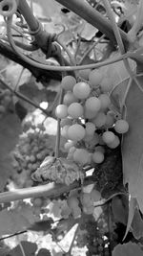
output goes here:
{"type": "Polygon", "coordinates": [[[114,247],[112,256],[142,256],[142,250],[138,244],[118,244],[114,247]]]}

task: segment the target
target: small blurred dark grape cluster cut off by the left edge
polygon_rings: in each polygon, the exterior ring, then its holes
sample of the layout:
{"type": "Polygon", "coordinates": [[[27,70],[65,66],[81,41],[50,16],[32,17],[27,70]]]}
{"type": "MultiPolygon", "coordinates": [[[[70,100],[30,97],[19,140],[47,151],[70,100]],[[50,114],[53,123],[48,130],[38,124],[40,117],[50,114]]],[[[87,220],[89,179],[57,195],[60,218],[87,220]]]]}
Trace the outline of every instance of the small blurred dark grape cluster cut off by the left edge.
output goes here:
{"type": "Polygon", "coordinates": [[[9,89],[0,88],[0,118],[9,110],[12,103],[12,93],[9,89]]]}

